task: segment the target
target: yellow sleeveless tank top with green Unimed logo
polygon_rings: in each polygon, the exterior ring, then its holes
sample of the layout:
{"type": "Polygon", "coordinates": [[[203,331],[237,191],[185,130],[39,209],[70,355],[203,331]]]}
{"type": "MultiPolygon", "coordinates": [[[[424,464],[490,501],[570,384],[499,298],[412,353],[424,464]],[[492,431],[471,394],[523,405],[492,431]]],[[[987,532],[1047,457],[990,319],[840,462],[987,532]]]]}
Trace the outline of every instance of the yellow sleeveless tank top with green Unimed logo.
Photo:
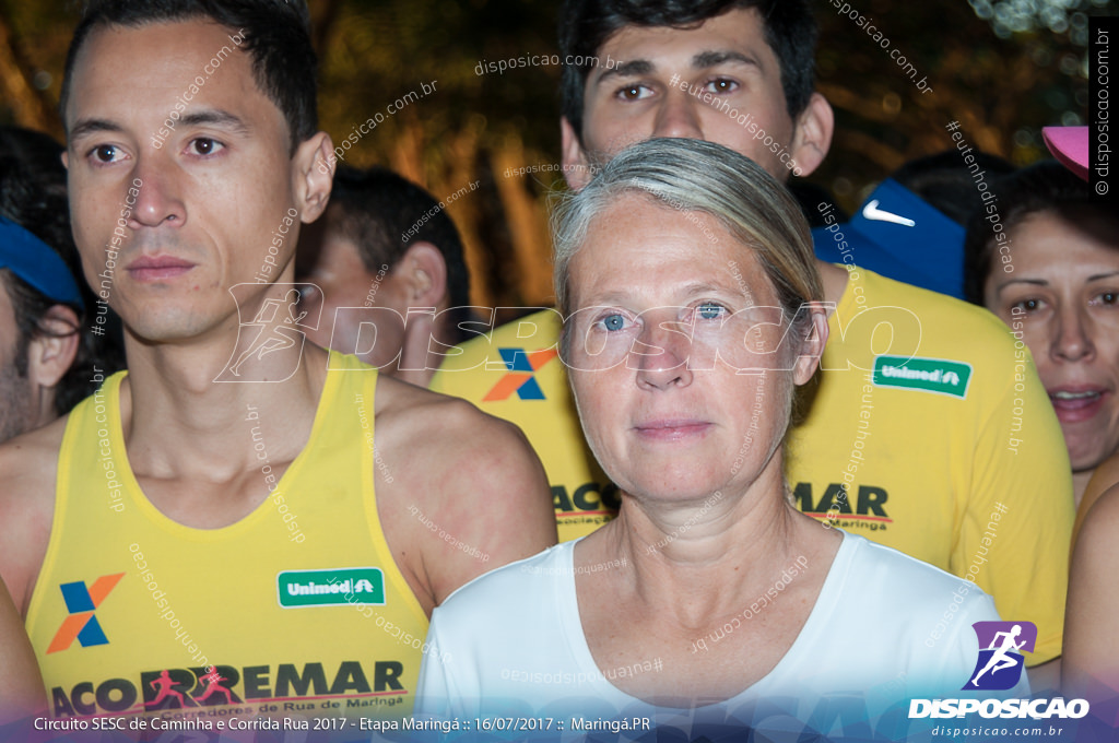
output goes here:
{"type": "Polygon", "coordinates": [[[433,651],[377,518],[377,373],[337,354],[329,368],[310,440],[279,479],[267,448],[283,423],[246,405],[270,495],[219,529],[182,526],[140,490],[121,429],[125,373],[70,413],[27,615],[56,717],[143,715],[149,731],[349,718],[356,732],[358,717],[411,713],[433,651]]]}

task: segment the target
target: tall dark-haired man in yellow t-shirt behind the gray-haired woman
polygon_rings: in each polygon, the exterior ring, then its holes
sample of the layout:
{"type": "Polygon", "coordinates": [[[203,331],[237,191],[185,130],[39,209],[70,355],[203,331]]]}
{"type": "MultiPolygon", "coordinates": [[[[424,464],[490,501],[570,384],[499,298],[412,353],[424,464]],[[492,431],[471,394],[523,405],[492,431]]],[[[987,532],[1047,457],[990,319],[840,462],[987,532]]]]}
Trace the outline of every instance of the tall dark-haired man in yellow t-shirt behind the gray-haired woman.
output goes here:
{"type": "MultiPolygon", "coordinates": [[[[782,182],[827,154],[834,117],[814,88],[806,2],[570,0],[560,18],[561,53],[586,60],[563,72],[573,188],[627,144],[655,137],[717,142],[782,182]],[[614,64],[595,64],[603,59],[614,64]]],[[[1033,664],[1059,656],[1072,487],[1036,373],[1017,364],[1013,339],[989,313],[856,264],[817,262],[834,309],[820,384],[791,433],[790,496],[825,526],[975,581],[1004,618],[1037,624],[1033,664]]],[[[739,270],[726,266],[731,279],[739,270]]],[[[433,382],[524,423],[554,495],[594,478],[572,441],[577,422],[563,376],[542,382],[539,399],[499,406],[486,403],[499,375],[482,369],[514,344],[525,358],[548,352],[560,327],[554,311],[510,323],[449,357],[433,382]]],[[[683,511],[680,519],[688,523],[683,511]]],[[[947,627],[953,613],[944,609],[947,627]]],[[[929,641],[943,631],[930,628],[929,641]]]]}

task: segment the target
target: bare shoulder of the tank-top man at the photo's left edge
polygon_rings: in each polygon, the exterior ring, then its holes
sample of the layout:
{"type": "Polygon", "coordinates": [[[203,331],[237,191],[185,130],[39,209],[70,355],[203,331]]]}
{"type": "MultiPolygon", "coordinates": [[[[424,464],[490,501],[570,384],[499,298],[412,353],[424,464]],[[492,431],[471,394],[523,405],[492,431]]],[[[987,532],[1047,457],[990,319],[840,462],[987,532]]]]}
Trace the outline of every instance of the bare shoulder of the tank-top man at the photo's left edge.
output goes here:
{"type": "Polygon", "coordinates": [[[67,416],[0,445],[0,575],[26,613],[50,539],[67,416]]]}

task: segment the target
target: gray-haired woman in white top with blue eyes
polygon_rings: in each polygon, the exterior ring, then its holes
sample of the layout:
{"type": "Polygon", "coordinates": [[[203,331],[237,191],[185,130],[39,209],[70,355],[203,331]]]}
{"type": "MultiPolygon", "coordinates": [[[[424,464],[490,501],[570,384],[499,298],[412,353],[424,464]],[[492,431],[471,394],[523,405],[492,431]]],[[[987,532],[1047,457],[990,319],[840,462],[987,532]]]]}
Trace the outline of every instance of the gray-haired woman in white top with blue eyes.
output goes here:
{"type": "Polygon", "coordinates": [[[833,694],[876,689],[871,715],[965,695],[990,599],[787,497],[794,392],[827,340],[796,201],[723,147],[649,140],[553,231],[561,352],[621,510],[436,609],[421,709],[725,713],[779,695],[807,720],[833,694]]]}

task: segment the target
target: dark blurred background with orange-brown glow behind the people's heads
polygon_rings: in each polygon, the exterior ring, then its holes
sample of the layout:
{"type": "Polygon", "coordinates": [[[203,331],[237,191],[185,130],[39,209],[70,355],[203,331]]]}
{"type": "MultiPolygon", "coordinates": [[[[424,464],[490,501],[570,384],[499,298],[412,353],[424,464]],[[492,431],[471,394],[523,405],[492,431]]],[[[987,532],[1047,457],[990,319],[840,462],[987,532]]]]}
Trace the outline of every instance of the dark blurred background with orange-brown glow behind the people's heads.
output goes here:
{"type": "MultiPolygon", "coordinates": [[[[863,29],[816,0],[818,87],[836,110],[824,166],[805,179],[844,208],[904,161],[947,149],[959,121],[976,148],[1026,164],[1047,157],[1041,128],[1082,124],[1090,16],[1119,0],[852,0],[928,76],[921,95],[863,29]]],[[[320,125],[346,139],[423,83],[436,92],[385,120],[346,154],[387,164],[436,199],[463,233],[473,301],[551,303],[546,194],[558,187],[560,68],[474,73],[481,60],[556,54],[558,3],[539,0],[311,0],[320,125]],[[507,168],[553,172],[506,177],[507,168]]],[[[63,62],[73,0],[0,0],[0,123],[62,139],[63,62]]],[[[137,60],[143,64],[142,59],[137,60]]]]}

